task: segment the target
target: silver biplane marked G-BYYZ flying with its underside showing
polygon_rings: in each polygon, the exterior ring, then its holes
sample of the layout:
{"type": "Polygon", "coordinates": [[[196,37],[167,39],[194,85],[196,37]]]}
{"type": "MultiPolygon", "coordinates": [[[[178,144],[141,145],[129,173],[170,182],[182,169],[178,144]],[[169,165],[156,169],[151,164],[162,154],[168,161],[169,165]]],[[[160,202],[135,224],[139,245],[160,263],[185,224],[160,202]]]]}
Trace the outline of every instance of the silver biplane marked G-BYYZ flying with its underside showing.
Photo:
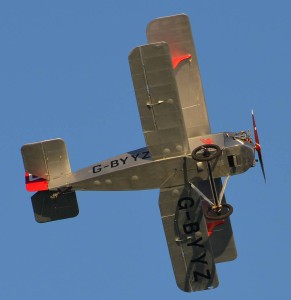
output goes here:
{"type": "Polygon", "coordinates": [[[76,172],[62,139],[25,144],[26,188],[37,222],[78,215],[76,191],[160,189],[159,207],[178,287],[216,288],[216,263],[237,257],[226,202],[230,176],[246,172],[258,153],[250,131],[212,133],[189,17],[162,17],[147,26],[148,44],[129,65],[146,147],[76,172]],[[224,181],[222,182],[222,178],[224,181]]]}

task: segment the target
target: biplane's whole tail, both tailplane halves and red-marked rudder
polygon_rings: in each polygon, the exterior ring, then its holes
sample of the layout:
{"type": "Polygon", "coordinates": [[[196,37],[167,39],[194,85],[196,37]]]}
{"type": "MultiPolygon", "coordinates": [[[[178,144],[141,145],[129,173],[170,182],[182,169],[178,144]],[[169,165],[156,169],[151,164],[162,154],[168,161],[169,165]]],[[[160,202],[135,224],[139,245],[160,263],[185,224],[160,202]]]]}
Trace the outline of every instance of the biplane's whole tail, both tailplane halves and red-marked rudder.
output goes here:
{"type": "Polygon", "coordinates": [[[53,139],[21,148],[26,189],[37,192],[31,197],[35,220],[39,223],[73,218],[79,214],[75,191],[67,184],[71,166],[65,142],[53,139]],[[58,188],[51,186],[58,179],[58,188]]]}

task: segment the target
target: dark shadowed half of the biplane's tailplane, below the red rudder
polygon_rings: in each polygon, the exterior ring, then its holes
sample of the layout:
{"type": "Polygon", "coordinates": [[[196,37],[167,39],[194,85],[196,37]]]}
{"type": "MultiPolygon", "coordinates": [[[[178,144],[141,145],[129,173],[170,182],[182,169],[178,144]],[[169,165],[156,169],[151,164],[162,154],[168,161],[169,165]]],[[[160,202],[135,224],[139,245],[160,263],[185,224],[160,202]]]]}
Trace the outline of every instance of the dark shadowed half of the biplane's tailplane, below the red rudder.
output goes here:
{"type": "Polygon", "coordinates": [[[37,192],[31,197],[35,220],[38,223],[46,223],[62,219],[76,217],[79,207],[74,191],[37,192]]]}

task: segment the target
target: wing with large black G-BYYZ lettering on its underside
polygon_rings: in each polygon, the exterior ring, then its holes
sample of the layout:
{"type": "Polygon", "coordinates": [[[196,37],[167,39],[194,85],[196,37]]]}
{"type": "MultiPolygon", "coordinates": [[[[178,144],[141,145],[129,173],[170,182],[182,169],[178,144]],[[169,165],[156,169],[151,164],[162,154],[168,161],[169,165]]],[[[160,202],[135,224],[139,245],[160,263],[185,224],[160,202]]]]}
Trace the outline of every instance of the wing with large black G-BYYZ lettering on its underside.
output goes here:
{"type": "Polygon", "coordinates": [[[217,287],[218,278],[199,196],[188,184],[161,189],[159,205],[178,287],[185,292],[217,287]]]}

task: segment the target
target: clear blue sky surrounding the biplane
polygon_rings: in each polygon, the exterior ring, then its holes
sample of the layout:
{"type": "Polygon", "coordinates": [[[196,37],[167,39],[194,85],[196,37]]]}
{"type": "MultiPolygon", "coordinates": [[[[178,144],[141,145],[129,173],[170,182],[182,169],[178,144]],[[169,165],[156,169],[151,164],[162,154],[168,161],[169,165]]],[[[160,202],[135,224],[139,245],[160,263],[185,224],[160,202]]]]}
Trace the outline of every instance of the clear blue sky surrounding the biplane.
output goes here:
{"type": "Polygon", "coordinates": [[[0,298],[274,299],[290,297],[290,1],[44,1],[0,3],[0,298]],[[73,170],[145,145],[128,53],[147,23],[186,13],[213,132],[251,128],[260,168],[226,191],[238,259],[220,286],[175,284],[158,190],[78,193],[78,218],[34,221],[20,147],[61,137],[73,170]]]}

